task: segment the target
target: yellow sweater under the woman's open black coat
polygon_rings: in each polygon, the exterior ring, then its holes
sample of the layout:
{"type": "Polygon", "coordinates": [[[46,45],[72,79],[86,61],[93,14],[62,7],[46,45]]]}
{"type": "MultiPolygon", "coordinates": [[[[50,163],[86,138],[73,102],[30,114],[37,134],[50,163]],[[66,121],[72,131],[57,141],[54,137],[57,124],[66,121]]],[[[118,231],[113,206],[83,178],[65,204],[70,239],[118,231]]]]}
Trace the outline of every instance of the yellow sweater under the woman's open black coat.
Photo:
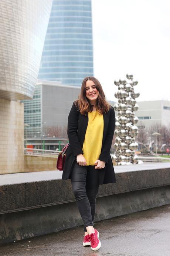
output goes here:
{"type": "Polygon", "coordinates": [[[83,156],[87,161],[86,165],[95,165],[95,161],[99,159],[102,148],[103,127],[103,114],[100,114],[98,110],[88,112],[88,126],[82,148],[83,156]]]}

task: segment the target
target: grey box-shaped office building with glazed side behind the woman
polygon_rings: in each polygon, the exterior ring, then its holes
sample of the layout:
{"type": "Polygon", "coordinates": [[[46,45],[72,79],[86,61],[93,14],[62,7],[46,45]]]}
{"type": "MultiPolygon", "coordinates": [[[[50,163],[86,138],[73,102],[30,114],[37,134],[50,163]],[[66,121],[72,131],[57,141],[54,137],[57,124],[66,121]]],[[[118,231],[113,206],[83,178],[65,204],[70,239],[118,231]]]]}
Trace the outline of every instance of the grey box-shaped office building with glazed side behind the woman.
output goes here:
{"type": "Polygon", "coordinates": [[[25,137],[47,136],[47,127],[67,127],[72,103],[81,87],[38,80],[32,100],[24,101],[25,137]]]}

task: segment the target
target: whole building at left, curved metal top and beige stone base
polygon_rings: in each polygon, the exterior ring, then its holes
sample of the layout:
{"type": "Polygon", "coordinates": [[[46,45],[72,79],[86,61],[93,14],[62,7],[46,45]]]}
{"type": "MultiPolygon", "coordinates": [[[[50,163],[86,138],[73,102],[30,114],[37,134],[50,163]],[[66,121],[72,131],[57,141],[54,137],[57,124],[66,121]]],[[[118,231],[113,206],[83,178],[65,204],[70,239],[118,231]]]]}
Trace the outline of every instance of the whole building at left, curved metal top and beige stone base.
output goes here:
{"type": "Polygon", "coordinates": [[[52,0],[0,1],[0,174],[24,172],[24,105],[33,98],[52,0]]]}

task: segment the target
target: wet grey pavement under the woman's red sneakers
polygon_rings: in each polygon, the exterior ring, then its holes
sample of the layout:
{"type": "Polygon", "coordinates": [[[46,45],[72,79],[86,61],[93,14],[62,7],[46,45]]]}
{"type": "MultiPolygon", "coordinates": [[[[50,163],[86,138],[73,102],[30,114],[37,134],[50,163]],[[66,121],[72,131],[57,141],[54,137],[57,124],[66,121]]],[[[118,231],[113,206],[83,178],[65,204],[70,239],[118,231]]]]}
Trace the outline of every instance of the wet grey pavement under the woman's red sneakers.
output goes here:
{"type": "Polygon", "coordinates": [[[83,227],[0,246],[0,256],[170,256],[170,204],[95,223],[101,248],[82,246],[83,227]]]}

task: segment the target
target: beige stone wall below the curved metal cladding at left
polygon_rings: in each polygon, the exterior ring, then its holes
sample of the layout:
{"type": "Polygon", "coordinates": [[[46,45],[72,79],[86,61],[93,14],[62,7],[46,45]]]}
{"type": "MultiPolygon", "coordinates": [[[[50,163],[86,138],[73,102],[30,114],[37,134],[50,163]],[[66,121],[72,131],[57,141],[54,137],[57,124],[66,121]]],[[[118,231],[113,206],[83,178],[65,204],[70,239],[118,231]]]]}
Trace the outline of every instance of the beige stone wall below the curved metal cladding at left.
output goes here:
{"type": "Polygon", "coordinates": [[[24,171],[24,105],[0,99],[0,174],[24,171]]]}

